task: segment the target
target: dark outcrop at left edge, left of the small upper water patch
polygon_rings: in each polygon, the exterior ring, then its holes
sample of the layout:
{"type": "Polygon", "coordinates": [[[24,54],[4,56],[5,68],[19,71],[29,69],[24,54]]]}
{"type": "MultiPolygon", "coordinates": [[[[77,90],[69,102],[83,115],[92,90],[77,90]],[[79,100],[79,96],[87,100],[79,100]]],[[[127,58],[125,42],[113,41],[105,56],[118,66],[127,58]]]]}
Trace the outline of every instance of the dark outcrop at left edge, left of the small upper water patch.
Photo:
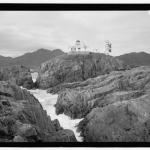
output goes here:
{"type": "Polygon", "coordinates": [[[1,67],[0,81],[10,81],[27,89],[34,87],[30,69],[21,65],[1,67]]]}

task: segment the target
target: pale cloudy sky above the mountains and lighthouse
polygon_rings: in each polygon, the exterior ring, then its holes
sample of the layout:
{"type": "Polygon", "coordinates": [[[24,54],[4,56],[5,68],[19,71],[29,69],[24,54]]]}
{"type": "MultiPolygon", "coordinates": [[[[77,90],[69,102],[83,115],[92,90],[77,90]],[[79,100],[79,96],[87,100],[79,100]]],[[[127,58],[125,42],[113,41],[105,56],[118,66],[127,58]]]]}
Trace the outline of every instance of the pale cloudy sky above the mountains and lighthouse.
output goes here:
{"type": "Polygon", "coordinates": [[[150,52],[150,11],[0,11],[0,55],[40,48],[69,51],[76,40],[111,55],[150,52]]]}

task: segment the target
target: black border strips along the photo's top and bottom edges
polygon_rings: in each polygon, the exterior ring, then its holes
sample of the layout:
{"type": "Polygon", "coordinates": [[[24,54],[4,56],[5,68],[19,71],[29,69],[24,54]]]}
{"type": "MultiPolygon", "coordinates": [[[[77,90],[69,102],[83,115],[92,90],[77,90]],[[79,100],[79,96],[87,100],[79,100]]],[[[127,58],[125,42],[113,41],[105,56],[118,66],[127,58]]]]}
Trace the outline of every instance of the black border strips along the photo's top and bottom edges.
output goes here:
{"type": "MultiPolygon", "coordinates": [[[[0,11],[146,11],[150,4],[0,3],[0,11]]],[[[149,142],[3,143],[0,147],[150,147],[149,142]]]]}

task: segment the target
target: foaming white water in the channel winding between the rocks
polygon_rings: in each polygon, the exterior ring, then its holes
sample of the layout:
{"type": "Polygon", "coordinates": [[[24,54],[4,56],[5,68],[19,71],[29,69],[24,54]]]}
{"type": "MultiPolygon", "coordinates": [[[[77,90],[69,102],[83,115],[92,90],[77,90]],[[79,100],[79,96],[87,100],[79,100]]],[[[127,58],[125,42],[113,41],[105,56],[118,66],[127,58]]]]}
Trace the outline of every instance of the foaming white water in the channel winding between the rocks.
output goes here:
{"type": "MultiPolygon", "coordinates": [[[[32,73],[33,82],[36,81],[37,73],[32,73]]],[[[77,132],[77,128],[75,127],[82,119],[71,119],[70,117],[60,114],[56,115],[54,105],[57,102],[58,95],[52,95],[46,92],[46,90],[29,90],[42,104],[43,109],[47,111],[47,114],[51,117],[51,120],[58,119],[60,125],[64,129],[70,129],[74,132],[76,139],[79,142],[82,142],[82,137],[80,137],[80,133],[77,132]]]]}

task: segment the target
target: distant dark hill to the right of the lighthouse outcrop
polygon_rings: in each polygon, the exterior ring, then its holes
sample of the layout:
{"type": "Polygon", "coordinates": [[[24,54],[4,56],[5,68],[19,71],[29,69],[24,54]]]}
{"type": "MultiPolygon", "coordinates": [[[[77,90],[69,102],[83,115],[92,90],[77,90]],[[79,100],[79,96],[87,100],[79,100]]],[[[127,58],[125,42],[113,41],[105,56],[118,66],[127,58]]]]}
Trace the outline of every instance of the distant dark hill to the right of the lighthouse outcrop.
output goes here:
{"type": "Polygon", "coordinates": [[[150,54],[145,52],[128,53],[117,56],[116,58],[122,60],[125,64],[130,66],[150,66],[150,54]]]}

